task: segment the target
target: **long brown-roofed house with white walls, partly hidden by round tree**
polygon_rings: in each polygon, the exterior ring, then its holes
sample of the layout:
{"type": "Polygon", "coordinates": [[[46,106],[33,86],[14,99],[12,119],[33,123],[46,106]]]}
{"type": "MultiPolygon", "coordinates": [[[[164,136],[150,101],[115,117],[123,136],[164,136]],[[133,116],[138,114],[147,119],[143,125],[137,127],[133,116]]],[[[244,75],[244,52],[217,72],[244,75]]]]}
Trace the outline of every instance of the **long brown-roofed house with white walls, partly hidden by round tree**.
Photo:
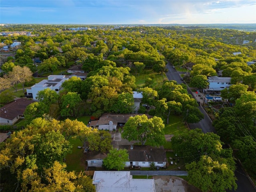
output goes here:
{"type": "MultiPolygon", "coordinates": [[[[119,145],[114,147],[128,150],[129,161],[125,162],[125,167],[150,167],[151,163],[154,163],[155,166],[166,167],[168,161],[163,146],[160,146],[160,148],[141,145],[119,145]]],[[[86,156],[88,167],[102,167],[105,157],[106,154],[88,152],[86,156]]]]}

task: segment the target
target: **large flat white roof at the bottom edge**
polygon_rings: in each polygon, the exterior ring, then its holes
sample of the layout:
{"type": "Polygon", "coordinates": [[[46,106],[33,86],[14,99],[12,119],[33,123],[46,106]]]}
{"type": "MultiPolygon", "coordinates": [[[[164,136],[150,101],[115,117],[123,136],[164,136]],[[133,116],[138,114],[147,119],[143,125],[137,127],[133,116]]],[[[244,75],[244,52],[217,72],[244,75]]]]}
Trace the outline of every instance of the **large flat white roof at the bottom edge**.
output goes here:
{"type": "Polygon", "coordinates": [[[96,192],[156,192],[154,179],[132,179],[130,171],[94,171],[96,192]]]}

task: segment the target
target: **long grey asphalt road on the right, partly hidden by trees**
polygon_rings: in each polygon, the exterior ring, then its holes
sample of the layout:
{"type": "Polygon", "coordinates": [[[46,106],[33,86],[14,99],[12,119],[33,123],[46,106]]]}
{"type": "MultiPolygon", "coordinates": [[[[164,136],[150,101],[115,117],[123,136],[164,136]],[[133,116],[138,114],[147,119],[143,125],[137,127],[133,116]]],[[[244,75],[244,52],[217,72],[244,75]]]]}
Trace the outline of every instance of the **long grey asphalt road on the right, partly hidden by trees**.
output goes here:
{"type": "MultiPolygon", "coordinates": [[[[176,71],[176,69],[172,68],[172,65],[170,63],[168,63],[166,67],[168,68],[168,72],[166,73],[168,80],[175,80],[179,84],[184,83],[180,79],[180,74],[176,71]]],[[[193,93],[189,88],[188,88],[188,93],[191,94],[196,99],[196,97],[193,95],[193,93]]],[[[214,127],[212,126],[212,120],[209,118],[204,108],[200,106],[199,109],[204,114],[204,119],[202,119],[198,123],[189,124],[190,129],[200,128],[204,133],[206,132],[216,133],[214,127]]],[[[235,171],[235,176],[238,179],[236,181],[238,188],[237,190],[227,190],[227,192],[256,192],[256,189],[250,182],[249,178],[246,176],[246,173],[242,169],[239,162],[237,162],[236,166],[237,168],[235,171]]]]}

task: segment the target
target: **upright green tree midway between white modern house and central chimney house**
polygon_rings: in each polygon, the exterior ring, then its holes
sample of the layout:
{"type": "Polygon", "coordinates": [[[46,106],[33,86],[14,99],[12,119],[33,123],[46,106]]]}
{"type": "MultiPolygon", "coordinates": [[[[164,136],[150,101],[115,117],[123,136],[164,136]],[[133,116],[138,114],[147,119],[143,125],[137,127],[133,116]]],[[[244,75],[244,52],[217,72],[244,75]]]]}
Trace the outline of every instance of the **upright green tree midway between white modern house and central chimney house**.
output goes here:
{"type": "Polygon", "coordinates": [[[65,116],[76,116],[78,110],[77,106],[82,102],[80,95],[75,92],[68,92],[61,98],[61,111],[60,115],[65,116]]]}

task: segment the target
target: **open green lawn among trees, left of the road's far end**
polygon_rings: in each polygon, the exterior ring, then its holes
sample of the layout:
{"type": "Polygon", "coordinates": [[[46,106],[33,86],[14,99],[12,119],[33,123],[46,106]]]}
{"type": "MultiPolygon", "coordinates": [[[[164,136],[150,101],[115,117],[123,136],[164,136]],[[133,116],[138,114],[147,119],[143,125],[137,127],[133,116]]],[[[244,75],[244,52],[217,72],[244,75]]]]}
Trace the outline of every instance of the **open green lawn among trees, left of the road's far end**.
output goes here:
{"type": "Polygon", "coordinates": [[[145,80],[147,78],[152,78],[154,80],[154,83],[152,85],[152,89],[158,89],[162,87],[163,80],[166,78],[165,74],[158,74],[154,72],[152,69],[145,69],[144,73],[140,74],[133,74],[136,78],[136,85],[138,87],[142,87],[145,83],[145,80]]]}

